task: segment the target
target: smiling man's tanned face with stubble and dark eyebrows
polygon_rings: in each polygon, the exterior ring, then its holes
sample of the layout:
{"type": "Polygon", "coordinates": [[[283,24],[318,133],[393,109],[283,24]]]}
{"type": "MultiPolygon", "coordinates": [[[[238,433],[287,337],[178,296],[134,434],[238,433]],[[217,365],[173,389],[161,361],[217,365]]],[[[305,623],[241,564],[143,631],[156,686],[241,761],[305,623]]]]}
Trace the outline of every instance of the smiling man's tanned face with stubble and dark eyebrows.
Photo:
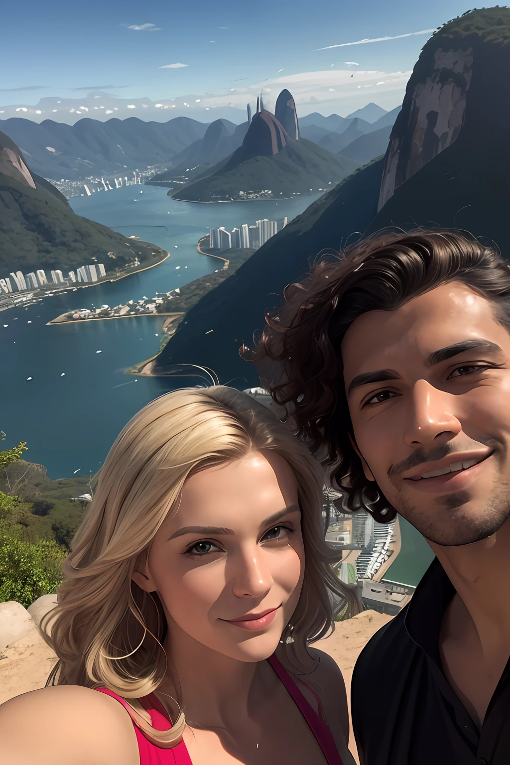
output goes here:
{"type": "Polygon", "coordinates": [[[486,539],[510,516],[510,334],[459,282],[369,311],[342,344],[365,477],[430,542],[486,539]]]}

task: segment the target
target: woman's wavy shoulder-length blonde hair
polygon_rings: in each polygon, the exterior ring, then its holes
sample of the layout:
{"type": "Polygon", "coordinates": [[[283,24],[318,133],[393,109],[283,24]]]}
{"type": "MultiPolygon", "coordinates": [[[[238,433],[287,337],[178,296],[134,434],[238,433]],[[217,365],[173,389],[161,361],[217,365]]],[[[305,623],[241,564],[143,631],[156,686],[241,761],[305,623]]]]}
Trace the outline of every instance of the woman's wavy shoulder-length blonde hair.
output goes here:
{"type": "Polygon", "coordinates": [[[288,659],[300,666],[310,662],[307,644],[333,628],[330,592],[357,612],[352,589],[333,571],[338,555],[324,542],[324,476],[306,446],[245,393],[224,386],[180,389],[128,422],[99,471],[63,564],[58,605],[41,623],[59,658],[47,685],[109,688],[129,699],[136,723],[155,744],[180,741],[180,710],[170,731],[154,730],[137,713],[138,699],[155,692],[167,672],[167,621],[158,594],[138,588],[132,574],[164,519],[177,512],[188,477],[261,449],[290,464],[302,514],[306,564],[300,599],[282,635],[288,659]]]}

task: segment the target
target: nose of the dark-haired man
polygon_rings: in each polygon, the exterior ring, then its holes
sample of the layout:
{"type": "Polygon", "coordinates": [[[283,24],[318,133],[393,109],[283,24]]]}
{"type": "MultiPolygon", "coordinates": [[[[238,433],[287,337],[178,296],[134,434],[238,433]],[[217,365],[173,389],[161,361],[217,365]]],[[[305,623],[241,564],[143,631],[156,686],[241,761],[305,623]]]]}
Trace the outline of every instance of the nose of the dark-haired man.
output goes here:
{"type": "Polygon", "coordinates": [[[439,436],[450,441],[462,430],[454,406],[455,396],[434,388],[427,380],[417,380],[404,426],[405,443],[413,447],[437,443],[439,436]]]}

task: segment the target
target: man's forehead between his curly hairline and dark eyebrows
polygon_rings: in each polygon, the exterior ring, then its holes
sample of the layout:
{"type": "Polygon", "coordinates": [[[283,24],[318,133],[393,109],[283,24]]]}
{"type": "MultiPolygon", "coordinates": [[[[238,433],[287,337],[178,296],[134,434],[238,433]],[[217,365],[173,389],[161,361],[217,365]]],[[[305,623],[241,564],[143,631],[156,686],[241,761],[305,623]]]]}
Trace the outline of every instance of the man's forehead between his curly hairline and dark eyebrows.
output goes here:
{"type": "Polygon", "coordinates": [[[440,285],[395,311],[369,311],[358,317],[343,339],[344,370],[357,374],[365,367],[395,366],[411,356],[426,363],[430,353],[487,337],[491,327],[502,329],[491,301],[456,282],[440,285]]]}

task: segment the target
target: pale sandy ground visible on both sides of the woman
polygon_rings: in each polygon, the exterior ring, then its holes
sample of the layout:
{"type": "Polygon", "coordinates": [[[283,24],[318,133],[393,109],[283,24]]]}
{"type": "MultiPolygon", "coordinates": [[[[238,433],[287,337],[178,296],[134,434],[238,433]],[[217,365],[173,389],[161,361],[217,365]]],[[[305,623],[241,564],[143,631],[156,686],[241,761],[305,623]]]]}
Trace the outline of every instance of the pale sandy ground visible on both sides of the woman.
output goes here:
{"type": "MultiPolygon", "coordinates": [[[[329,653],[342,670],[347,698],[350,695],[352,669],[359,653],[372,635],[390,619],[376,611],[363,611],[353,619],[337,622],[333,635],[315,644],[317,648],[329,653]]],[[[4,649],[3,656],[5,658],[0,659],[0,704],[21,693],[43,688],[50,669],[57,661],[35,628],[28,636],[4,649]]],[[[352,728],[349,749],[356,762],[359,762],[352,728]]]]}

